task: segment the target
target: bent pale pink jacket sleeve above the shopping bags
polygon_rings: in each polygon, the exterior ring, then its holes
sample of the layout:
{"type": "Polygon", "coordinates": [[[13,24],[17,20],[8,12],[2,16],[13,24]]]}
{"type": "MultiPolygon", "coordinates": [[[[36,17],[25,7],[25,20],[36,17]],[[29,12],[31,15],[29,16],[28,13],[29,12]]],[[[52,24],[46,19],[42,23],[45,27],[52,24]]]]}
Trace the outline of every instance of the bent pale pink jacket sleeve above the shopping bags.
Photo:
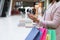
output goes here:
{"type": "Polygon", "coordinates": [[[39,25],[43,25],[44,27],[57,28],[60,25],[60,7],[54,13],[52,21],[40,20],[39,25]]]}

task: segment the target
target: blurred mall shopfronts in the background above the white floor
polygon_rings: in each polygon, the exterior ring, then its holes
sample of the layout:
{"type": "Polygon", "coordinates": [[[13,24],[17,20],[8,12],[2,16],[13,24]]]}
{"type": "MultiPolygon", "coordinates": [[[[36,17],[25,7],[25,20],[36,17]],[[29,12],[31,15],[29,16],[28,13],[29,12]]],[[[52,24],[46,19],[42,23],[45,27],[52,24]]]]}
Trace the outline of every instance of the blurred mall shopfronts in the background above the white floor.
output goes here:
{"type": "Polygon", "coordinates": [[[34,14],[36,17],[38,14],[43,16],[48,5],[49,0],[0,0],[0,17],[25,16],[27,12],[34,14]]]}

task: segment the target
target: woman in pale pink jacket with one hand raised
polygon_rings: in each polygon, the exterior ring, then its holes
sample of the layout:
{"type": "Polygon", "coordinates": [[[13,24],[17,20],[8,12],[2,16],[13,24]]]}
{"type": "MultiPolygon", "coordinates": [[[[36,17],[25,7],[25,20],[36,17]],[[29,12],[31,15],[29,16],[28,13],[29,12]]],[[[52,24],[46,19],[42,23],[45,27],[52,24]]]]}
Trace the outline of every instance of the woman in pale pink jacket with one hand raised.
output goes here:
{"type": "Polygon", "coordinates": [[[29,18],[38,25],[45,28],[49,27],[56,29],[56,40],[60,40],[60,2],[58,1],[59,0],[50,0],[51,3],[48,6],[42,20],[34,17],[32,14],[28,14],[29,18]]]}

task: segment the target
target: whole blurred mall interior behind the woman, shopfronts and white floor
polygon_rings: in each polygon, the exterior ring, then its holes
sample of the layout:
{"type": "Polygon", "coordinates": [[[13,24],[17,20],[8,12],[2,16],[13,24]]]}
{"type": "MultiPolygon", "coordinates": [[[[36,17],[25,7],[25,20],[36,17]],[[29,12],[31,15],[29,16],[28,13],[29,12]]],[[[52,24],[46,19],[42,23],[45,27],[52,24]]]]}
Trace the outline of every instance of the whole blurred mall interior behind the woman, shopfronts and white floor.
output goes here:
{"type": "Polygon", "coordinates": [[[0,0],[0,40],[27,40],[37,26],[28,14],[42,19],[49,4],[49,0],[0,0]]]}

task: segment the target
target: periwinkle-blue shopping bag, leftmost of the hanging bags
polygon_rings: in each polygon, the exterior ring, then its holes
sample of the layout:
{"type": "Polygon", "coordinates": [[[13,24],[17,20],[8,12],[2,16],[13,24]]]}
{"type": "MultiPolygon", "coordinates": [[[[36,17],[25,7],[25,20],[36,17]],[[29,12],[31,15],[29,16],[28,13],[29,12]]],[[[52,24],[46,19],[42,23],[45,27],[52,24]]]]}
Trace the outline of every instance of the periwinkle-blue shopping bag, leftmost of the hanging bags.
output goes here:
{"type": "Polygon", "coordinates": [[[25,40],[34,40],[39,34],[39,30],[35,27],[32,28],[25,40]]]}

